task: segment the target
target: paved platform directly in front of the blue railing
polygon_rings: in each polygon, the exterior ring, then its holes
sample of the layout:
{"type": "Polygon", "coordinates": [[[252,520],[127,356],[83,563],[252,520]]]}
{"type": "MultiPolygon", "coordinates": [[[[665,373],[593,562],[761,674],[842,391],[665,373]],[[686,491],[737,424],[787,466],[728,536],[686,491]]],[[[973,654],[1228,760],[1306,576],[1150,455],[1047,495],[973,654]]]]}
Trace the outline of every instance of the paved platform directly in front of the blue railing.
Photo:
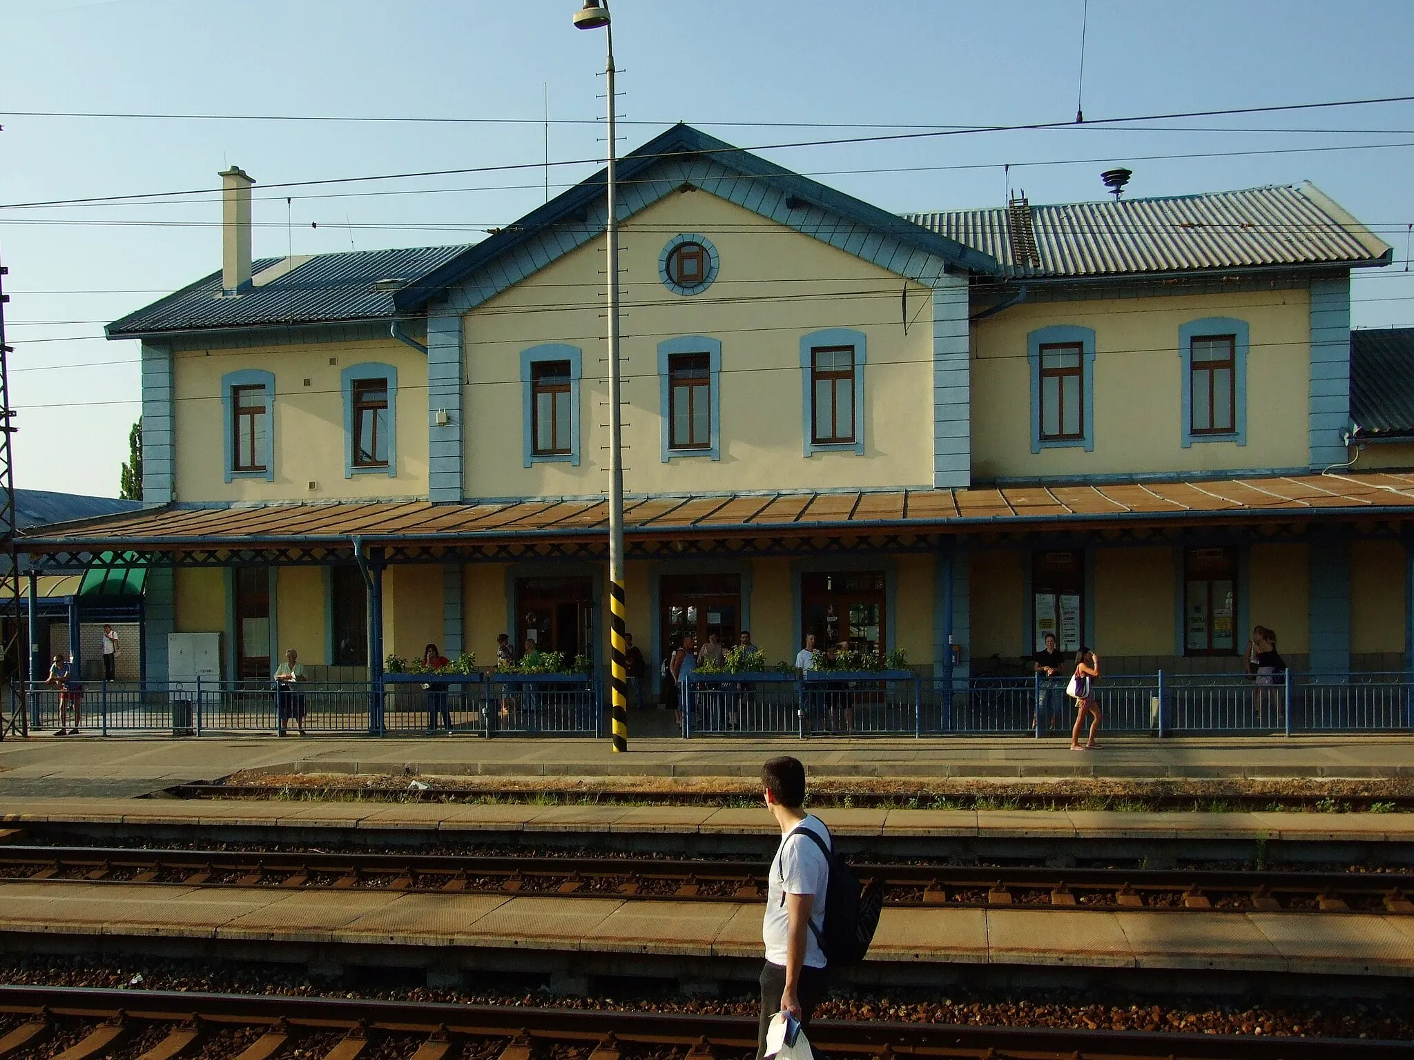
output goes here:
{"type": "Polygon", "coordinates": [[[0,742],[0,796],[132,796],[240,770],[345,776],[585,779],[748,787],[761,763],[790,753],[819,780],[926,784],[977,779],[1407,779],[1414,736],[1117,736],[1086,753],[1063,738],[600,739],[246,736],[35,736],[0,742]]]}

